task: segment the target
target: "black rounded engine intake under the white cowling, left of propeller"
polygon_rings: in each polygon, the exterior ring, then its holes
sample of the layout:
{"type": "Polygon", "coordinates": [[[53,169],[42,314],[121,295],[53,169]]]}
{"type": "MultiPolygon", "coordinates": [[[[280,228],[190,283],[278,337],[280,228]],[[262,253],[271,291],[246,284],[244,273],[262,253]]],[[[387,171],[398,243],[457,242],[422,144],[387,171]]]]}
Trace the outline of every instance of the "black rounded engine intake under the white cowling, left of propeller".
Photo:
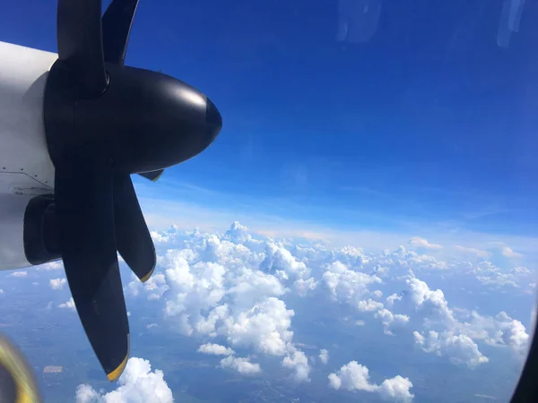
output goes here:
{"type": "Polygon", "coordinates": [[[24,211],[23,241],[26,259],[31,264],[61,258],[52,195],[36,196],[28,202],[24,211]]]}

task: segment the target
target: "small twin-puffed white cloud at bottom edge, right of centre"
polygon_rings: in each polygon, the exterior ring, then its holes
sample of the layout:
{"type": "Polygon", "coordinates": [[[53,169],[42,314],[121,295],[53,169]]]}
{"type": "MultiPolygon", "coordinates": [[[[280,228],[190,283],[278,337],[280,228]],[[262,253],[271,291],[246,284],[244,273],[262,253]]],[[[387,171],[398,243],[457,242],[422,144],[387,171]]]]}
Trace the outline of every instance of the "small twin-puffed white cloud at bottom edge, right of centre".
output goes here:
{"type": "Polygon", "coordinates": [[[412,388],[412,382],[408,378],[397,375],[377,385],[370,382],[369,369],[356,361],[343,365],[336,373],[330,373],[328,378],[329,385],[335,390],[377,392],[382,399],[403,402],[414,398],[409,391],[412,388]]]}

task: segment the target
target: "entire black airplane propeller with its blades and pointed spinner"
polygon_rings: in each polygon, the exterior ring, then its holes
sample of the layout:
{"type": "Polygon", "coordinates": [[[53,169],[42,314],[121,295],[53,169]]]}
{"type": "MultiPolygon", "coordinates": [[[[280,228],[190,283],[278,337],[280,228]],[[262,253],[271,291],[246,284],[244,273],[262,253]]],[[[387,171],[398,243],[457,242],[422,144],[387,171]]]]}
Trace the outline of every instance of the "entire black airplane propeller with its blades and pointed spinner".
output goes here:
{"type": "Polygon", "coordinates": [[[117,252],[142,281],[156,263],[130,175],[155,180],[205,150],[222,125],[213,102],[185,82],[124,65],[137,4],[113,0],[101,18],[101,0],[58,1],[58,59],[44,99],[65,274],[110,381],[129,356],[117,252]]]}

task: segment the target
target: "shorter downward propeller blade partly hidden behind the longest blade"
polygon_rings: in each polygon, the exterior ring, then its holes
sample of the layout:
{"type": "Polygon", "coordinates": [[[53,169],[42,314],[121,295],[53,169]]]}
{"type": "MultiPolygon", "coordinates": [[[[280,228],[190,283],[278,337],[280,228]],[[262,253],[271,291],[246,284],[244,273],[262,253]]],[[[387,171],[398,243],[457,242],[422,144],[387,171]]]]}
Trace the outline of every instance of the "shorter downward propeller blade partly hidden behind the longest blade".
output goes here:
{"type": "Polygon", "coordinates": [[[114,221],[117,252],[138,279],[150,279],[157,262],[155,246],[128,175],[114,178],[114,221]]]}

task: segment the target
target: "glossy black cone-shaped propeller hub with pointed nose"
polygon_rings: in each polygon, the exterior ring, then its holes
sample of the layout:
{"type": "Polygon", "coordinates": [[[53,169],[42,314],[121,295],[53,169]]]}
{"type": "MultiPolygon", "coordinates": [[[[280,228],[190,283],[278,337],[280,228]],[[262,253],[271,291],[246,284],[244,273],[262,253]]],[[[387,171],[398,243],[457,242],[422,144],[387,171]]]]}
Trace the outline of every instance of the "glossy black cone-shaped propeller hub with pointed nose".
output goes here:
{"type": "Polygon", "coordinates": [[[107,90],[76,101],[66,67],[51,69],[45,124],[53,162],[71,153],[70,146],[92,143],[110,155],[117,172],[154,171],[195,157],[220,133],[219,110],[187,83],[134,67],[106,67],[107,90]]]}

